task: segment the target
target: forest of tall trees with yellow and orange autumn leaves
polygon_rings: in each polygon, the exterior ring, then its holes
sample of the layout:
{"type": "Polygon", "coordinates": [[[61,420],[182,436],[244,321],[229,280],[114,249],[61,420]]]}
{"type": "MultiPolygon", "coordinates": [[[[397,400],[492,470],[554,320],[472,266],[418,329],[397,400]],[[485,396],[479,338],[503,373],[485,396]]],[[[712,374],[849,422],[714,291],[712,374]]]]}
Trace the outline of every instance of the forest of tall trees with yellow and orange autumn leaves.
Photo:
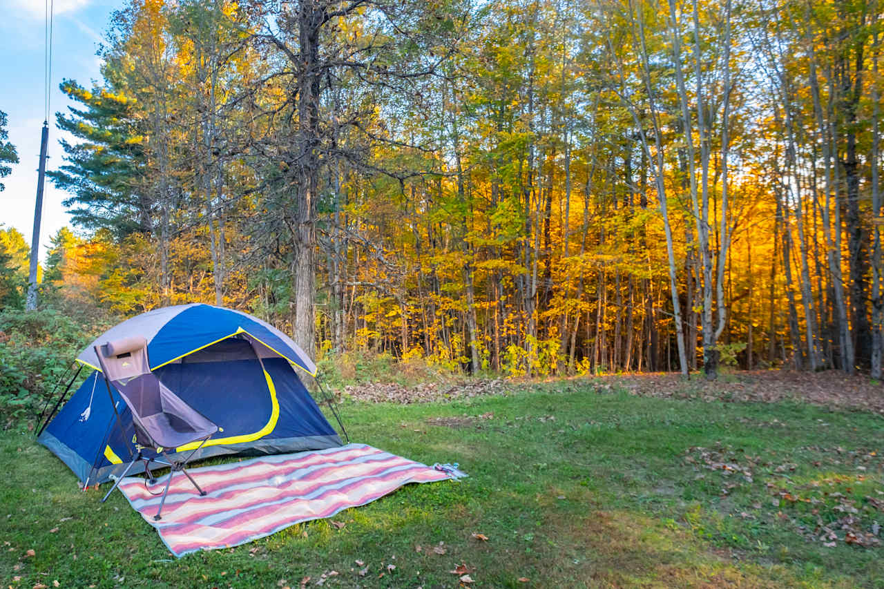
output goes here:
{"type": "MultiPolygon", "coordinates": [[[[311,356],[474,374],[880,379],[880,16],[129,0],[103,78],[62,82],[76,141],[50,181],[73,226],[40,303],[210,302],[311,356]]],[[[0,265],[0,305],[20,308],[13,228],[0,265]]]]}

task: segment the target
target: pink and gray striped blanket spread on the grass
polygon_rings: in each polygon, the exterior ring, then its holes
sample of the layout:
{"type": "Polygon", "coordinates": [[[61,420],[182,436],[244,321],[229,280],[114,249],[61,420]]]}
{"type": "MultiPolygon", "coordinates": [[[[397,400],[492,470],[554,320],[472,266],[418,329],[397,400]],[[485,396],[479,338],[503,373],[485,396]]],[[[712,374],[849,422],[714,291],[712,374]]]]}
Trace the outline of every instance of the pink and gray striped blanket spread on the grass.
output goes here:
{"type": "Polygon", "coordinates": [[[364,444],[188,471],[207,494],[201,497],[183,473],[175,473],[158,522],[154,515],[165,476],[151,487],[156,495],[143,478],[127,477],[119,486],[176,556],[239,546],[293,524],[365,505],[408,483],[451,478],[447,472],[364,444]]]}

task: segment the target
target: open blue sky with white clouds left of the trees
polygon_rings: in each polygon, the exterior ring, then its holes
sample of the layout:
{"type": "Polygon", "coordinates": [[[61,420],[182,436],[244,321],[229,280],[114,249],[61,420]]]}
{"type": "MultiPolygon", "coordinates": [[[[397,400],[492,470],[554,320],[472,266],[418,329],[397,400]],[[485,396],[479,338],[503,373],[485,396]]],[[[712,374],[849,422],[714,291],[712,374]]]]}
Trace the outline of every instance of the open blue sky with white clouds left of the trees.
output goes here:
{"type": "MultiPolygon", "coordinates": [[[[101,62],[95,55],[102,35],[110,23],[111,11],[121,8],[124,0],[51,0],[52,75],[50,82],[50,142],[47,169],[62,164],[63,151],[58,144],[61,132],[55,126],[55,113],[66,111],[69,101],[58,84],[67,78],[90,85],[101,77],[101,62]]],[[[19,152],[19,164],[2,181],[0,225],[15,227],[28,244],[34,226],[34,201],[37,190],[37,166],[40,132],[45,113],[46,8],[44,0],[0,0],[0,111],[8,115],[9,141],[19,152]]],[[[72,141],[68,137],[68,141],[72,141]]],[[[43,193],[40,257],[46,255],[50,235],[70,218],[62,206],[68,193],[58,190],[50,180],[43,193]]]]}

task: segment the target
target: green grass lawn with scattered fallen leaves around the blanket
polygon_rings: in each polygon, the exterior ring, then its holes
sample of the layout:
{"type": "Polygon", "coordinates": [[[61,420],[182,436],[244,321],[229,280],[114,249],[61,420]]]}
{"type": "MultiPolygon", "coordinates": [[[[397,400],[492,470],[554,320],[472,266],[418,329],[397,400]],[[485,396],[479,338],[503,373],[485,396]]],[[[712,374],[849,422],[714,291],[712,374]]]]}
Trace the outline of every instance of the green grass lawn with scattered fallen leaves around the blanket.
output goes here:
{"type": "Polygon", "coordinates": [[[342,410],[353,440],[470,477],[349,509],[340,530],[316,521],[175,559],[120,493],[101,504],[78,492],[31,434],[8,431],[0,581],[297,587],[335,570],[324,586],[455,587],[449,570],[464,563],[475,587],[884,587],[884,548],[813,533],[845,516],[857,530],[884,524],[884,420],[871,413],[598,394],[574,380],[342,410]]]}

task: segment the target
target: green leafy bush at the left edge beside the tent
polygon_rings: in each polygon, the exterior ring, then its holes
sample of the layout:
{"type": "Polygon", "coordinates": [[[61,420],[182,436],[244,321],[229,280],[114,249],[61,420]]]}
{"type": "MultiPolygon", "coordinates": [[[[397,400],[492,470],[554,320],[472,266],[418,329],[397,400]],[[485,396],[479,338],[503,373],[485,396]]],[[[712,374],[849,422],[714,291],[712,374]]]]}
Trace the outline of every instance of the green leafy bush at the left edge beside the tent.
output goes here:
{"type": "Polygon", "coordinates": [[[114,321],[83,321],[55,309],[0,312],[0,417],[27,419],[42,408],[73,359],[114,321]]]}

